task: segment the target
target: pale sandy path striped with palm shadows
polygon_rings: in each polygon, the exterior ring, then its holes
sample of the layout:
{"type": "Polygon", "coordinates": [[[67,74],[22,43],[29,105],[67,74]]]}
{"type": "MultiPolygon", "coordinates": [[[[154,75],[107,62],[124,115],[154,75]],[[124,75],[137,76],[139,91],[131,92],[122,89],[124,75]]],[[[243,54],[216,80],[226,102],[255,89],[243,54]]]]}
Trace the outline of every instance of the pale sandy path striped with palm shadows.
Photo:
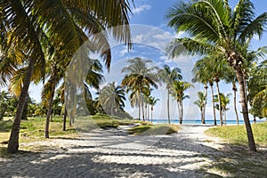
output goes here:
{"type": "Polygon", "coordinates": [[[204,134],[207,126],[183,125],[168,136],[125,136],[94,131],[76,140],[31,144],[53,150],[0,158],[0,177],[204,177],[222,145],[204,134]],[[101,133],[101,134],[100,134],[101,133]]]}

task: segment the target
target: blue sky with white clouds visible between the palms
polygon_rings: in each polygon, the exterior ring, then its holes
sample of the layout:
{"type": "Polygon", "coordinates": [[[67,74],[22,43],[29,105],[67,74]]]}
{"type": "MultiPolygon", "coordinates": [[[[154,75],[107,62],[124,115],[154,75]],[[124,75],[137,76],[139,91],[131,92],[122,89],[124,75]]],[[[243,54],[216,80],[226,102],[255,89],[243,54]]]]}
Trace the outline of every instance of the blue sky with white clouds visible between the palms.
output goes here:
{"type": "MultiPolygon", "coordinates": [[[[184,33],[176,34],[172,28],[166,26],[167,20],[165,18],[166,11],[175,3],[175,0],[136,0],[134,1],[135,8],[133,9],[133,16],[131,15],[131,28],[133,33],[134,49],[129,53],[128,50],[122,44],[111,43],[112,50],[112,63],[110,71],[105,70],[105,82],[102,85],[106,85],[115,81],[119,84],[124,77],[121,74],[121,69],[127,65],[127,60],[134,57],[142,57],[144,59],[150,59],[153,61],[154,66],[162,67],[164,64],[169,65],[171,68],[178,67],[182,69],[182,75],[184,80],[190,82],[192,78],[191,69],[194,62],[199,59],[198,56],[180,56],[174,60],[164,54],[164,47],[174,37],[186,36],[184,33]]],[[[237,0],[229,0],[231,6],[237,4],[237,0]]],[[[257,15],[263,12],[267,12],[267,5],[263,0],[253,1],[255,4],[255,12],[257,15]]],[[[111,40],[112,41],[112,40],[111,40]]],[[[267,33],[265,32],[262,39],[252,40],[252,49],[257,49],[260,46],[266,45],[267,33]]],[[[197,106],[193,104],[197,101],[198,91],[203,91],[203,85],[194,84],[195,87],[191,88],[186,94],[190,95],[190,99],[184,101],[184,119],[200,119],[200,112],[197,106]]],[[[231,85],[225,85],[221,82],[221,93],[232,93],[231,85]]],[[[39,93],[41,86],[31,85],[29,93],[36,101],[40,101],[39,93]]],[[[94,91],[95,92],[95,91],[94,91]]],[[[214,87],[215,92],[215,87],[214,87]]],[[[216,93],[216,92],[215,92],[216,93]]],[[[166,85],[158,85],[158,90],[154,90],[152,95],[158,98],[160,101],[155,106],[154,118],[162,119],[166,118],[166,85]]],[[[239,95],[239,93],[238,93],[239,95]]],[[[239,100],[239,98],[238,98],[239,100]]],[[[232,96],[231,96],[232,101],[232,96]]],[[[125,110],[129,112],[133,117],[137,117],[138,109],[131,108],[128,101],[125,102],[125,110]]],[[[171,99],[171,118],[178,119],[176,102],[171,99]]],[[[230,110],[227,113],[228,119],[235,119],[233,104],[228,106],[230,110]]],[[[240,110],[240,107],[239,107],[240,110]]],[[[239,118],[241,114],[239,113],[239,118]]],[[[208,103],[206,106],[206,119],[213,119],[213,110],[211,106],[210,88],[208,89],[208,103]]],[[[217,113],[218,119],[218,113],[217,113]]]]}

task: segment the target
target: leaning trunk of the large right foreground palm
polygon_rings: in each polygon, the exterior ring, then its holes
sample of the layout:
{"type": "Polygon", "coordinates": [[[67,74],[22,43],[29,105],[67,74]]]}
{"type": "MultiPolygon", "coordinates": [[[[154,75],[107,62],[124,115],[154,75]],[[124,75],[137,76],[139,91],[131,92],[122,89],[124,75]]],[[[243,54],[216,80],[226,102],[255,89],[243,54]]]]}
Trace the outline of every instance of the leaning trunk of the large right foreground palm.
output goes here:
{"type": "Polygon", "coordinates": [[[239,94],[240,94],[240,103],[242,106],[242,114],[244,117],[244,122],[246,125],[246,130],[247,130],[247,141],[248,141],[248,148],[250,151],[256,151],[255,148],[255,141],[254,141],[254,136],[252,132],[252,128],[249,122],[249,117],[248,117],[248,109],[247,109],[247,101],[246,101],[246,88],[244,84],[244,77],[242,70],[240,68],[236,68],[237,72],[237,78],[239,81],[239,94]]]}

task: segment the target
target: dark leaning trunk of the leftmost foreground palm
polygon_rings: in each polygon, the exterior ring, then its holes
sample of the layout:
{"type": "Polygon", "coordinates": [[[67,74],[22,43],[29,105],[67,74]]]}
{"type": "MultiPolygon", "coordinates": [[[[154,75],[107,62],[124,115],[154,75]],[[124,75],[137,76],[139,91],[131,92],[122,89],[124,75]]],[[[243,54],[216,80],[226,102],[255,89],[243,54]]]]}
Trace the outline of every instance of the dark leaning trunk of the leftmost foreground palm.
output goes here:
{"type": "Polygon", "coordinates": [[[17,106],[16,116],[14,117],[12,132],[10,134],[7,152],[15,153],[19,150],[19,135],[20,135],[20,122],[21,116],[24,109],[25,101],[28,98],[28,87],[30,84],[30,78],[33,74],[34,65],[36,62],[36,58],[31,58],[28,62],[28,69],[26,72],[26,76],[24,78],[24,84],[20,93],[20,99],[17,106]]]}

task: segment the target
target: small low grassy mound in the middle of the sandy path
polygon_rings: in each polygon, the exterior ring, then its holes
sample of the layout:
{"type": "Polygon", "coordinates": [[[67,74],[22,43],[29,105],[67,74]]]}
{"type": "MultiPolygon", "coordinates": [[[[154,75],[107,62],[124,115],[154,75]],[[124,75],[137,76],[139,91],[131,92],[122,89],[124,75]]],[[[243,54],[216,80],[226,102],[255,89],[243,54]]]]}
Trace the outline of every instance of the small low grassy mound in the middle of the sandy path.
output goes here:
{"type": "Polygon", "coordinates": [[[174,134],[180,129],[179,125],[138,125],[128,130],[129,134],[134,135],[162,135],[162,134],[174,134]]]}

